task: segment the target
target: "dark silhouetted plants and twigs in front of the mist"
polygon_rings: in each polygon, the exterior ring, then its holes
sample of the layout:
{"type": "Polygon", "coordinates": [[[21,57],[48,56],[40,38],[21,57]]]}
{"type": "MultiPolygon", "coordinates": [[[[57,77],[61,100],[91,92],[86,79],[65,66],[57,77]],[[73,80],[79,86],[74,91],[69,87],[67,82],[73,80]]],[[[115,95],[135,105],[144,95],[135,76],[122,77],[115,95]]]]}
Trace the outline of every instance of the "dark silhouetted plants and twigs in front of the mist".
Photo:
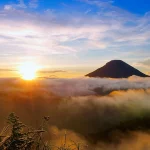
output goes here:
{"type": "Polygon", "coordinates": [[[71,141],[67,144],[67,135],[64,134],[61,145],[52,145],[46,141],[44,134],[47,132],[49,117],[44,117],[39,129],[24,125],[19,117],[11,113],[8,125],[0,134],[0,150],[82,150],[81,143],[71,141]]]}

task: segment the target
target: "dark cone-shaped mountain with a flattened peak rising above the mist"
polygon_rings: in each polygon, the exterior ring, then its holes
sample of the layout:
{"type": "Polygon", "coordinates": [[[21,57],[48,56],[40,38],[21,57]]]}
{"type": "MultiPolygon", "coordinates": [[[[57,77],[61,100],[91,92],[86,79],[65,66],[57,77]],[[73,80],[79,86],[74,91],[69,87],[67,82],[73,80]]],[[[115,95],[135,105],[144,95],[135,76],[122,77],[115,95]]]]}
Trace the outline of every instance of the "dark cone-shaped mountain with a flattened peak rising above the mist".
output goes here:
{"type": "Polygon", "coordinates": [[[88,77],[128,78],[132,75],[149,77],[139,70],[133,68],[122,60],[112,60],[103,67],[87,74],[88,77]]]}

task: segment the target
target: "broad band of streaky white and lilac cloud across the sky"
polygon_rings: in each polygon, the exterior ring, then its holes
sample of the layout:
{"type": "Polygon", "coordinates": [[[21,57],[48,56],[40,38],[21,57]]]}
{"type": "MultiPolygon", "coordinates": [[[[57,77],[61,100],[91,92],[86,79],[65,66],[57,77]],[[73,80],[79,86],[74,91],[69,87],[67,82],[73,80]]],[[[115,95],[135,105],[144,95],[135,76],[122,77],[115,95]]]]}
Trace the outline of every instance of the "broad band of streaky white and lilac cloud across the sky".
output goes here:
{"type": "MultiPolygon", "coordinates": [[[[148,44],[148,14],[139,17],[113,7],[111,2],[87,2],[89,5],[98,5],[96,14],[85,15],[85,11],[61,14],[57,10],[45,11],[42,15],[31,14],[24,9],[17,9],[26,7],[23,0],[16,4],[13,11],[8,11],[13,5],[5,5],[4,10],[0,11],[0,48],[7,47],[8,53],[14,53],[15,49],[19,55],[29,53],[29,50],[30,54],[48,55],[95,49],[120,51],[127,46],[148,44]]],[[[29,5],[36,7],[37,3],[32,0],[29,5]]]]}

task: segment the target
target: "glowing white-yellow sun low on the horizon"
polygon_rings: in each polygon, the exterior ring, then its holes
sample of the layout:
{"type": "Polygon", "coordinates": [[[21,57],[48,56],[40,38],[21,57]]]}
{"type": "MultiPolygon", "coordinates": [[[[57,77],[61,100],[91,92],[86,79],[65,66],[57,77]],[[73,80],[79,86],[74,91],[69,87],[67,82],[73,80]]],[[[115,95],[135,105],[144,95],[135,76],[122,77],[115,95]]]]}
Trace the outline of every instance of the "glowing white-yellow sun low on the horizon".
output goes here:
{"type": "Polygon", "coordinates": [[[33,80],[37,77],[39,67],[34,62],[24,62],[19,66],[19,74],[24,80],[33,80]]]}

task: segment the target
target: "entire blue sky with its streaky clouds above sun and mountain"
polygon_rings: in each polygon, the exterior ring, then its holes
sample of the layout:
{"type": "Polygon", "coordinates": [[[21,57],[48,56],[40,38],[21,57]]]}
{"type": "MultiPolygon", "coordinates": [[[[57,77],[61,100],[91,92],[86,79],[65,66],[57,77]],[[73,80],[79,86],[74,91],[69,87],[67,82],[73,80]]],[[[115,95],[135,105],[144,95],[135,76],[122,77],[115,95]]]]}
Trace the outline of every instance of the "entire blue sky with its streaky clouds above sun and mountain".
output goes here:
{"type": "Polygon", "coordinates": [[[150,72],[149,0],[1,0],[0,21],[2,69],[32,60],[84,75],[122,59],[150,72]]]}

